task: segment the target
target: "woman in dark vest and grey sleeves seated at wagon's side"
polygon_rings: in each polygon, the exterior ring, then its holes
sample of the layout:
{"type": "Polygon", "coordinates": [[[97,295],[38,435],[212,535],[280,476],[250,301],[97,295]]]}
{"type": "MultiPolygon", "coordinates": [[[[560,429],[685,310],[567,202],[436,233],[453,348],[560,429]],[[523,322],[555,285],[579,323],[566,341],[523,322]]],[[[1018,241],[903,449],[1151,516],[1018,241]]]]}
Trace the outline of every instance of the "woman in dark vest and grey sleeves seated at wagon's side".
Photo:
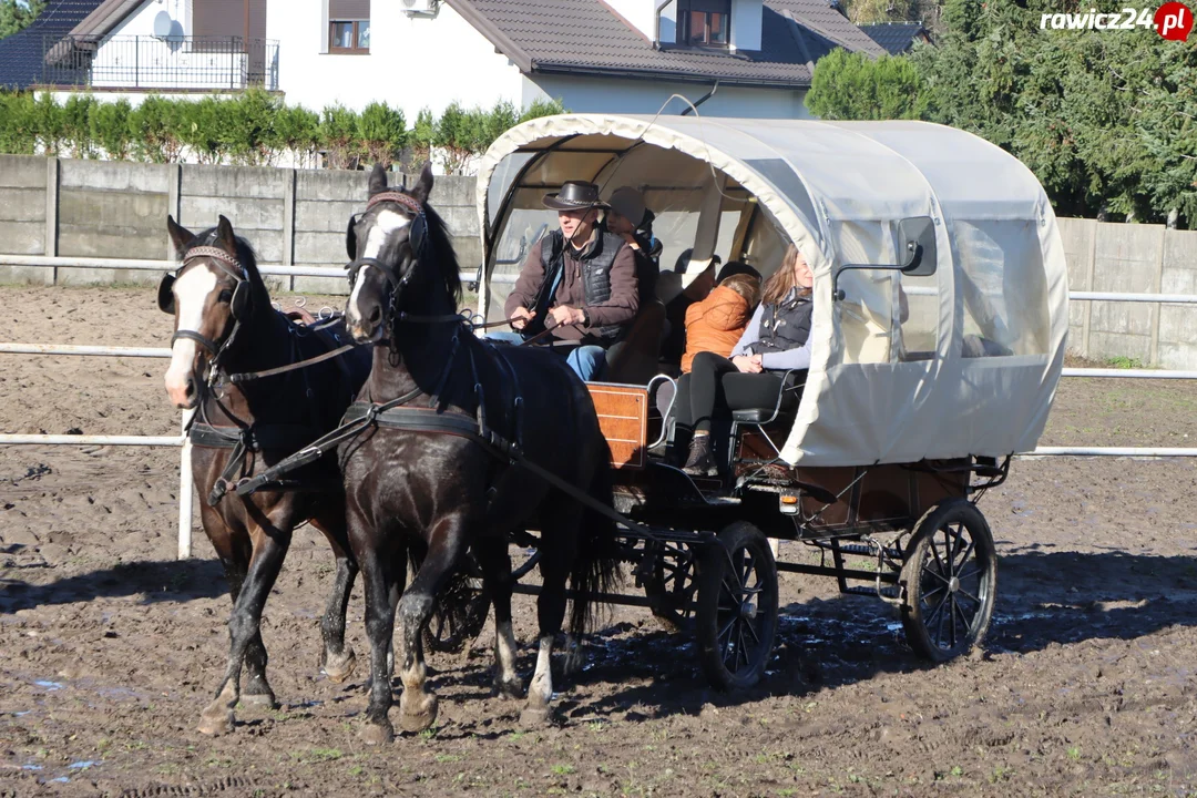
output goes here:
{"type": "MultiPolygon", "coordinates": [[[[772,408],[782,390],[783,373],[810,365],[810,287],[814,275],[802,252],[790,244],[782,266],[765,282],[760,306],[731,358],[713,352],[694,355],[691,373],[678,384],[675,418],[679,427],[691,428],[694,438],[683,470],[697,476],[713,476],[711,415],[717,400],[731,410],[772,408]]],[[[786,406],[797,402],[788,391],[786,406]]]]}

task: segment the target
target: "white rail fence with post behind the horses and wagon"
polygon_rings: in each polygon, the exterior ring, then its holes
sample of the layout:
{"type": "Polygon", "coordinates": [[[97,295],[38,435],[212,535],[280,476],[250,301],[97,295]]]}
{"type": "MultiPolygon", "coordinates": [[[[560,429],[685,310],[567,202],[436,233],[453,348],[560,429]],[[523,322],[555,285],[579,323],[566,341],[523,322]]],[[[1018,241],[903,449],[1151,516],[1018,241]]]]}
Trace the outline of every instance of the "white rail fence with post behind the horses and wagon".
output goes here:
{"type": "MultiPolygon", "coordinates": [[[[178,267],[174,261],[150,261],[108,257],[44,257],[36,255],[2,255],[0,266],[25,266],[41,268],[86,269],[134,269],[166,272],[178,267]]],[[[278,276],[339,278],[345,275],[341,267],[277,266],[260,264],[259,272],[278,276]]],[[[462,280],[473,280],[474,273],[462,272],[462,280]]],[[[515,275],[503,275],[503,281],[515,281],[515,275]]],[[[1094,301],[1148,301],[1168,304],[1197,304],[1197,294],[1163,293],[1112,293],[1099,291],[1074,291],[1074,300],[1094,301]]],[[[60,343],[0,343],[0,354],[80,355],[115,358],[169,358],[165,347],[105,347],[60,343]]],[[[1064,377],[1117,378],[1117,379],[1197,379],[1197,371],[1163,371],[1154,368],[1064,368],[1064,377]]],[[[192,412],[183,414],[183,427],[192,412]]],[[[178,559],[192,555],[192,444],[186,435],[26,435],[0,434],[0,445],[29,446],[170,446],[181,447],[180,497],[178,497],[178,559]]],[[[1147,447],[1147,446],[1039,446],[1023,457],[1197,457],[1197,447],[1147,447]]]]}

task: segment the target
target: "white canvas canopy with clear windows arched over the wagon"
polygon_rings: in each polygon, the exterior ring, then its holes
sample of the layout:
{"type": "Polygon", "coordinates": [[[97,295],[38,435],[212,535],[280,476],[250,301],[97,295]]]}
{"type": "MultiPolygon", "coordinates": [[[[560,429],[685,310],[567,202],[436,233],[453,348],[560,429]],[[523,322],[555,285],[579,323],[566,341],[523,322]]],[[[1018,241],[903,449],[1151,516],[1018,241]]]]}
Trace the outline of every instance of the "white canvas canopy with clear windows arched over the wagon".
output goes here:
{"type": "MultiPolygon", "coordinates": [[[[800,248],[815,276],[813,357],[786,461],[909,463],[1035,446],[1063,365],[1067,269],[1043,188],[1001,148],[906,121],[525,122],[479,167],[481,303],[492,318],[527,244],[555,224],[541,196],[566,179],[595,181],[603,196],[644,190],[658,223],[693,249],[689,278],[712,254],[767,276],[786,242],[800,248]],[[844,272],[833,300],[839,267],[901,262],[898,223],[917,217],[934,224],[935,274],[844,272]]],[[[669,256],[667,245],[662,272],[669,256]]]]}

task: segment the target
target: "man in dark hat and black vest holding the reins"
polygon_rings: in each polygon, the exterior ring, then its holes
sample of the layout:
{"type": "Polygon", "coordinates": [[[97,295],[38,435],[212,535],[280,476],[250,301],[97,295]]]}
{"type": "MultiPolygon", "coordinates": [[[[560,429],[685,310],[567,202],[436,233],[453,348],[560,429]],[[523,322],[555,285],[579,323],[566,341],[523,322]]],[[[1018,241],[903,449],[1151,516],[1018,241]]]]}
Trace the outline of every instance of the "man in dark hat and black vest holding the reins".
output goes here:
{"type": "Polygon", "coordinates": [[[598,225],[598,212],[608,206],[594,183],[570,181],[543,202],[557,211],[560,229],[533,245],[504,312],[524,340],[547,330],[552,342],[577,343],[570,366],[582,379],[595,379],[607,347],[636,318],[636,257],[621,237],[598,225]]]}

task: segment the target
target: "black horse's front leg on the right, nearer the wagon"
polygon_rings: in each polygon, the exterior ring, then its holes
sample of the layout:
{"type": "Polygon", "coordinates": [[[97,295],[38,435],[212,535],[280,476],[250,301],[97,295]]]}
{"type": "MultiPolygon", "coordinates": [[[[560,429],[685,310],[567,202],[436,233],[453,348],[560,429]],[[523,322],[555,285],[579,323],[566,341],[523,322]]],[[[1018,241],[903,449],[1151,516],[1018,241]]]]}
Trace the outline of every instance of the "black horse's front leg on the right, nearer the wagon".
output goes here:
{"type": "Polygon", "coordinates": [[[437,720],[437,696],[427,689],[427,666],[424,664],[424,632],[437,593],[454,566],[464,554],[467,525],[461,514],[443,517],[429,530],[429,552],[412,585],[399,602],[400,639],[403,644],[403,665],[399,677],[403,694],[399,699],[400,726],[415,733],[437,720]]]}

